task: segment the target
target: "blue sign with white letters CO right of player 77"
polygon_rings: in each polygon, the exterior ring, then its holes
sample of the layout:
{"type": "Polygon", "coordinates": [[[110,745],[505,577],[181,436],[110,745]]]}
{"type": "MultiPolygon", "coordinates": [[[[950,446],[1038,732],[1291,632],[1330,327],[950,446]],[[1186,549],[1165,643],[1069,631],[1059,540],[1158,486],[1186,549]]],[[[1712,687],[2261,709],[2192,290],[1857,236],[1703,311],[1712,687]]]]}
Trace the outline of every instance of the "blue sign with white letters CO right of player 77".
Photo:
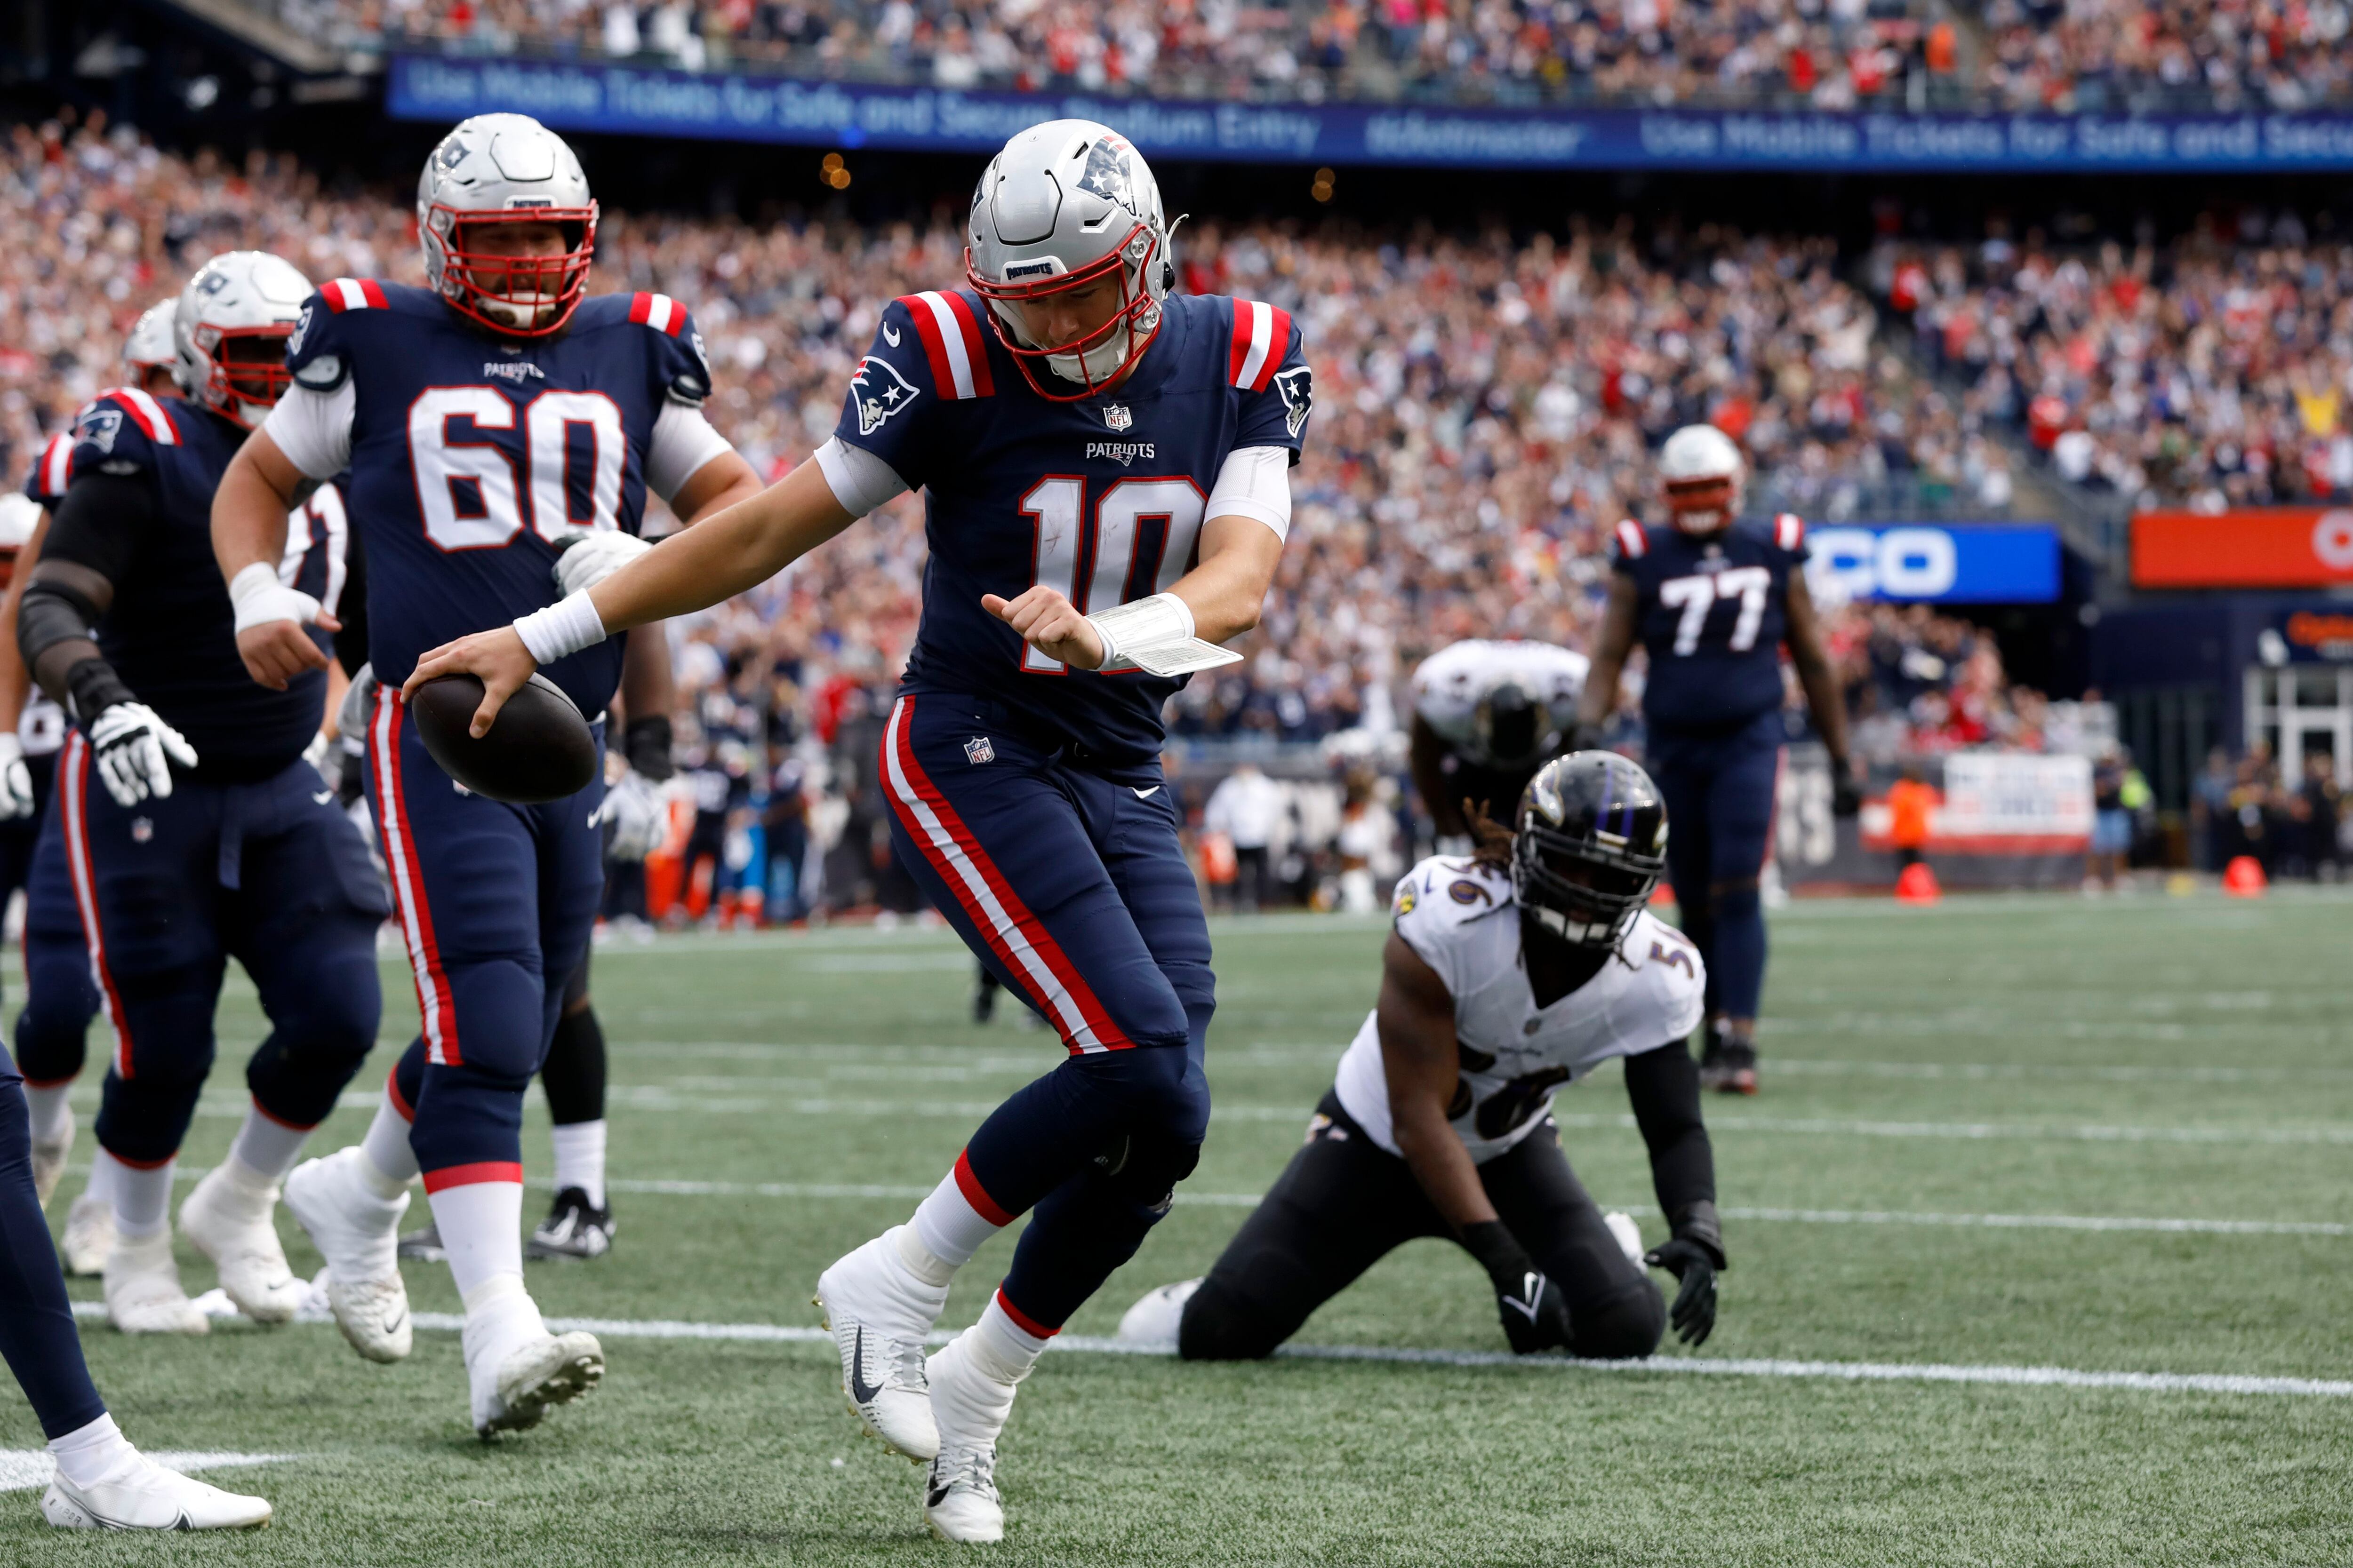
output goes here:
{"type": "Polygon", "coordinates": [[[2047,522],[1871,522],[1805,531],[1807,578],[1849,599],[2049,604],[2059,529],[2047,522]]]}

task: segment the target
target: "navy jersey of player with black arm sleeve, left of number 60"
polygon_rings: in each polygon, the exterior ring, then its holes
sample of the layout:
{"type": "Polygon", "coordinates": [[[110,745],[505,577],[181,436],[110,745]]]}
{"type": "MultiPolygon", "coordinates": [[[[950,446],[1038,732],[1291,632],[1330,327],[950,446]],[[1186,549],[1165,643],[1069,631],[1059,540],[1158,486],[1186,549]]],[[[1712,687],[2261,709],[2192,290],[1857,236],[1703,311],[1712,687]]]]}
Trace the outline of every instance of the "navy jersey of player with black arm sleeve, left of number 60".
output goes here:
{"type": "MultiPolygon", "coordinates": [[[[311,670],[285,691],[254,684],[238,658],[238,616],[212,555],[212,491],[245,430],[184,397],[136,388],[99,393],[73,421],[73,477],[139,475],[155,484],[155,522],[115,597],[99,616],[99,651],[115,675],[188,738],[198,778],[245,783],[285,771],[318,733],[327,675],[311,670]]],[[[341,496],[322,487],[287,529],[280,581],[332,604],[341,588],[341,496]]],[[[322,651],[334,644],[311,628],[322,651]]]]}

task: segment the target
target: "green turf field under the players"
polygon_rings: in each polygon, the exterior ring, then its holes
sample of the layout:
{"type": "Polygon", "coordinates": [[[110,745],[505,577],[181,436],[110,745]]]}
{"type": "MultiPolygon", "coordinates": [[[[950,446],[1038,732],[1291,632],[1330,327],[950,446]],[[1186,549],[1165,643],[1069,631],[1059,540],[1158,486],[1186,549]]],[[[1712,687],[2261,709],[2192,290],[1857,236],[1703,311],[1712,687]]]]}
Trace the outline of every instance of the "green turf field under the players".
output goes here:
{"type": "MultiPolygon", "coordinates": [[[[2353,898],[1977,898],[1774,917],[1767,1088],[1711,1100],[1729,1375],[1049,1354],[1000,1460],[1019,1563],[2348,1563],[2353,1561],[2353,898]],[[2073,1225],[2019,1225],[2064,1215],[2073,1225]],[[2089,1225],[2160,1220],[2174,1225],[2089,1225]],[[2247,1222],[2240,1229],[2217,1222],[2247,1222]],[[1875,1380],[1819,1375],[1873,1363],[1875,1380]],[[1887,1371],[1894,1368],[1894,1371],[1887,1371]],[[1929,1380],[1904,1368],[2245,1378],[1929,1380]],[[2301,1380],[2301,1382],[2289,1382],[2301,1380]],[[2249,1392],[2219,1392],[2219,1389],[2249,1392]]],[[[1200,1274],[1299,1140],[1372,999],[1379,924],[1217,929],[1219,1117],[1186,1199],[1071,1324],[1108,1335],[1200,1274]]],[[[532,1265],[551,1316],[807,1328],[816,1272],[906,1218],[1042,1032],[967,1023],[944,931],[605,947],[619,1251],[532,1265]],[[659,1192],[631,1182],[704,1182],[659,1192]]],[[[414,1006],[386,969],[374,1086],[414,1006]]],[[[259,1037],[249,987],[224,1056],[259,1037]]],[[[85,1114],[94,1093],[78,1100],[85,1114]]],[[[224,1067],[188,1164],[242,1105],[224,1067]]],[[[1617,1074],[1560,1098],[1586,1185],[1659,1239],[1617,1074]]],[[[360,1098],[315,1147],[358,1135],[360,1098]]],[[[546,1175],[534,1105],[527,1159],[546,1175]]],[[[85,1159],[87,1159],[87,1143],[85,1159]]],[[[80,1190],[68,1178],[54,1204],[80,1190]]],[[[181,1187],[186,1192],[186,1187],[181,1187]]],[[[536,1213],[546,1194],[532,1194],[536,1213]]],[[[421,1218],[421,1199],[414,1211],[421,1218]]],[[[282,1222],[299,1269],[315,1267],[282,1222]]],[[[1009,1258],[984,1251],[946,1324],[1009,1258]]],[[[202,1260],[181,1248],[193,1288],[202,1260]]],[[[419,1312],[447,1274],[409,1267],[419,1312]]],[[[75,1284],[96,1298],[94,1281],[75,1284]]],[[[680,1333],[675,1328],[664,1333],[680,1333]]],[[[1301,1333],[1501,1349],[1485,1279],[1424,1241],[1301,1333]]],[[[256,1537],[49,1533],[0,1495],[0,1563],[878,1563],[953,1554],[918,1472],[856,1436],[831,1347],[607,1335],[586,1403],[494,1448],[456,1335],[367,1366],[327,1326],[125,1340],[85,1324],[148,1448],[287,1455],[256,1537]]],[[[1671,1359],[1687,1352],[1671,1347],[1671,1359]]],[[[1986,1375],[1979,1375],[1986,1378],[1986,1375]]],[[[38,1448],[0,1401],[0,1448],[38,1448]]]]}

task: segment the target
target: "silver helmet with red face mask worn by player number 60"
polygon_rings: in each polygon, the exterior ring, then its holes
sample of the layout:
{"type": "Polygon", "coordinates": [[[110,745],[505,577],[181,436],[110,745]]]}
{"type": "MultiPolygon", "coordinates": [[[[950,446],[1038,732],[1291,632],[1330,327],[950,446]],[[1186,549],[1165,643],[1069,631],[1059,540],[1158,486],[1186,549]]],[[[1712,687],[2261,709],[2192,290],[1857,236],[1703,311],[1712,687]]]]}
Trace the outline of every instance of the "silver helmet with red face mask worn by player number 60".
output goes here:
{"type": "Polygon", "coordinates": [[[588,292],[595,197],[565,139],[529,115],[475,115],[442,136],[416,179],[416,240],[426,287],[492,331],[544,339],[562,331],[588,292]],[[487,249],[496,223],[553,223],[562,249],[511,256],[487,249]]]}

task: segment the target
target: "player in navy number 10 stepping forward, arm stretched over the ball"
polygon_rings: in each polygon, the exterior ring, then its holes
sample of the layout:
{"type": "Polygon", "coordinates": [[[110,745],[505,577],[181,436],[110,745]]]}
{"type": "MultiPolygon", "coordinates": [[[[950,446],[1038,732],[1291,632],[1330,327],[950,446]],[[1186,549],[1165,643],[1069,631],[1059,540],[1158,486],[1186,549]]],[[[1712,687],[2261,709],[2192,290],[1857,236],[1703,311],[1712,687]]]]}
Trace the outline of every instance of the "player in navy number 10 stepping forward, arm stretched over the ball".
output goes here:
{"type": "Polygon", "coordinates": [[[1160,712],[1259,621],[1311,376],[1287,313],[1167,292],[1158,183],[1108,127],[1014,136],[969,223],[965,287],[885,306],[814,463],[409,679],[480,675],[487,731],[539,663],[744,592],[927,491],[922,628],[880,757],[892,835],[1068,1058],[816,1295],[859,1418],[932,1462],[929,1526],[998,1540],[1014,1385],[1167,1213],[1209,1124],[1209,931],[1160,712]],[[1021,1213],[1005,1284],[927,1363],[951,1276],[1021,1213]]]}

